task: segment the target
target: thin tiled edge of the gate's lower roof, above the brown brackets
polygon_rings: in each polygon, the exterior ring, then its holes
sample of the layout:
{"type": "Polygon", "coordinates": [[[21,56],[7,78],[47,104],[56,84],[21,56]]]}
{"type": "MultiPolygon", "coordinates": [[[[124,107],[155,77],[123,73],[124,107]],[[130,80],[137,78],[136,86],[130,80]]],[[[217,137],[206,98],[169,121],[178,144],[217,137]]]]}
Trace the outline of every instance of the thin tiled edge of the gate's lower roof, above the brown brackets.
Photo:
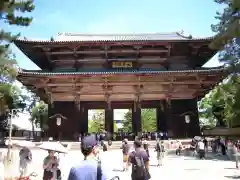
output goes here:
{"type": "Polygon", "coordinates": [[[108,71],[85,71],[85,72],[41,72],[41,71],[19,71],[23,76],[74,76],[74,75],[122,75],[122,74],[188,74],[188,73],[221,73],[224,68],[202,68],[199,70],[108,70],[108,71]]]}

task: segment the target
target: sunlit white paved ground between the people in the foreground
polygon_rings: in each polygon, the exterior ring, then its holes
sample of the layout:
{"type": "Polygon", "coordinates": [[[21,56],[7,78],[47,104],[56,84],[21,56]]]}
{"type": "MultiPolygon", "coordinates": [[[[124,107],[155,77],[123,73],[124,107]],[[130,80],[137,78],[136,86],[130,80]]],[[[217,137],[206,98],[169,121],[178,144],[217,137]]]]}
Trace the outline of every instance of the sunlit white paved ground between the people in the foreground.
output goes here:
{"type": "MultiPolygon", "coordinates": [[[[211,160],[197,160],[193,157],[168,155],[165,158],[163,167],[156,167],[156,153],[151,151],[151,169],[150,173],[153,180],[159,180],[162,176],[164,180],[224,180],[224,179],[236,179],[240,178],[240,170],[236,170],[235,164],[232,161],[217,160],[216,158],[209,158],[211,160]]],[[[15,159],[17,160],[17,152],[15,159]]],[[[29,171],[35,171],[40,176],[42,175],[42,160],[47,155],[45,151],[33,150],[33,163],[29,171]]],[[[103,165],[106,165],[113,175],[120,176],[123,180],[130,179],[129,172],[121,172],[122,169],[122,156],[120,150],[112,150],[105,153],[101,153],[103,159],[103,165]]],[[[70,167],[78,164],[83,159],[81,152],[71,151],[66,156],[61,155],[60,167],[63,170],[63,179],[66,179],[70,170],[70,167]]],[[[11,166],[11,170],[7,171],[11,175],[17,174],[18,165],[15,163],[11,166]]]]}

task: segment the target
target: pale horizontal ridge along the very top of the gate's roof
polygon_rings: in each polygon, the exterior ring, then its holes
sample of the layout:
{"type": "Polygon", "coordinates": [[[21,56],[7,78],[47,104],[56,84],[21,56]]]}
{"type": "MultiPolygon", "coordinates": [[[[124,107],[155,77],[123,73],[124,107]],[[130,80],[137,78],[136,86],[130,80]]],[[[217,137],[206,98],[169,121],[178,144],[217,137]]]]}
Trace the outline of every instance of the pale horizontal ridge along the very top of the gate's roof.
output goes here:
{"type": "Polygon", "coordinates": [[[154,32],[154,33],[71,33],[59,32],[57,36],[146,36],[146,35],[179,35],[179,32],[154,32]]]}

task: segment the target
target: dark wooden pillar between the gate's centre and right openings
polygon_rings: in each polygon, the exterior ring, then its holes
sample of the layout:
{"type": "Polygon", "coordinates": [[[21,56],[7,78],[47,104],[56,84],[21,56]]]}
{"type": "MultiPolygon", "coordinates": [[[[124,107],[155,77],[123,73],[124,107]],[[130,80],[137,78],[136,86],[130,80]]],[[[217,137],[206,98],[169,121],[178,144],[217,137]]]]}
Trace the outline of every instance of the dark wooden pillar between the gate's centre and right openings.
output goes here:
{"type": "Polygon", "coordinates": [[[142,132],[141,107],[138,104],[132,108],[132,130],[135,135],[142,132]]]}

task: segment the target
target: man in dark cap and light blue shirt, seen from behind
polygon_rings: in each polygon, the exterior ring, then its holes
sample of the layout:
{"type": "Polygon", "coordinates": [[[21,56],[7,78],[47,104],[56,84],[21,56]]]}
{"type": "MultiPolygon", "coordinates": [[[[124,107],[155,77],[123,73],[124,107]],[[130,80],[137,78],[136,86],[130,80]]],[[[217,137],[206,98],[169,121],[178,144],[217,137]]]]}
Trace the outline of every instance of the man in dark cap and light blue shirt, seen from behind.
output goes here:
{"type": "Polygon", "coordinates": [[[97,158],[99,149],[94,136],[86,136],[81,143],[84,160],[71,168],[68,180],[107,180],[111,179],[106,168],[97,158]]]}

